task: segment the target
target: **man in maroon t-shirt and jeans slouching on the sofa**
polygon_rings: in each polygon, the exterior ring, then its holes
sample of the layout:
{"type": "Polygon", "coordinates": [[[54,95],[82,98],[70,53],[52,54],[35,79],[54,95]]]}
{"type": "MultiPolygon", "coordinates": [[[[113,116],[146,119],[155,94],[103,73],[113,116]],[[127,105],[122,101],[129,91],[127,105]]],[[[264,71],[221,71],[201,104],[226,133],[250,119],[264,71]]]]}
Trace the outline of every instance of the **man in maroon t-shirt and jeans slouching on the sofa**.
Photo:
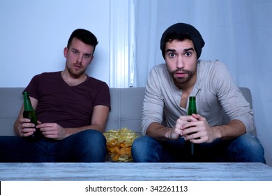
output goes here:
{"type": "Polygon", "coordinates": [[[31,79],[24,91],[29,92],[38,125],[23,118],[22,107],[14,124],[17,137],[0,137],[0,162],[105,161],[109,87],[85,74],[97,44],[90,31],[73,31],[64,48],[65,69],[31,79]],[[42,138],[29,141],[36,129],[42,138]]]}

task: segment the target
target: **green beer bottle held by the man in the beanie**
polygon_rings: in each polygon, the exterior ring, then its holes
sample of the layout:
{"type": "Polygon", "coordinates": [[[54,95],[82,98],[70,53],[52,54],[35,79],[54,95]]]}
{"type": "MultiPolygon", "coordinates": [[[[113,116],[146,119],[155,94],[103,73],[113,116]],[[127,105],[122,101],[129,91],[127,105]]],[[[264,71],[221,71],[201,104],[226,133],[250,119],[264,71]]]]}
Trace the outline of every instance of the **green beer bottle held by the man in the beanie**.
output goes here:
{"type": "MultiPolygon", "coordinates": [[[[195,96],[189,97],[189,107],[188,107],[188,116],[192,114],[197,114],[197,104],[195,100],[195,96]]],[[[186,141],[186,153],[188,157],[192,160],[197,160],[197,156],[199,155],[199,147],[200,144],[192,143],[190,140],[186,141]]]]}

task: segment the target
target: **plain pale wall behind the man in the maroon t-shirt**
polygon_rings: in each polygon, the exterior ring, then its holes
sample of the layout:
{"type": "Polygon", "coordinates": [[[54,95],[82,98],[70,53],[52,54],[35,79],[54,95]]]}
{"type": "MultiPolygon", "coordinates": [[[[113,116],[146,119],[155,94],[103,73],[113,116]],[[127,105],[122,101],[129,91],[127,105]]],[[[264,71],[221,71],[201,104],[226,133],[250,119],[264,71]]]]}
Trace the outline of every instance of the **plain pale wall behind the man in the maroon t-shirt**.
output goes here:
{"type": "Polygon", "coordinates": [[[109,0],[1,0],[0,16],[0,87],[63,70],[63,49],[79,28],[99,41],[87,74],[109,83],[109,0]]]}

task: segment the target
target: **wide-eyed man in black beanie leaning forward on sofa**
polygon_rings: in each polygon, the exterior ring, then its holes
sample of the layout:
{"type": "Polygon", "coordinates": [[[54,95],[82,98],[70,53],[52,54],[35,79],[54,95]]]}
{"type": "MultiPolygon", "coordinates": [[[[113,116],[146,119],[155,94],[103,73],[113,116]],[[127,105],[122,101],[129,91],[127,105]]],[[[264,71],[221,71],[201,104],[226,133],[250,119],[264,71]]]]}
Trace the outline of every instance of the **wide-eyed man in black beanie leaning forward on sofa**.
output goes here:
{"type": "Polygon", "coordinates": [[[252,134],[250,104],[224,63],[199,60],[204,45],[190,24],[177,23],[163,33],[165,63],[149,74],[144,136],[135,139],[132,148],[135,162],[266,163],[264,148],[252,134]],[[188,116],[190,96],[196,98],[197,114],[188,116]],[[222,111],[230,118],[227,124],[222,123],[222,111]],[[187,146],[192,146],[190,151],[187,146]]]}

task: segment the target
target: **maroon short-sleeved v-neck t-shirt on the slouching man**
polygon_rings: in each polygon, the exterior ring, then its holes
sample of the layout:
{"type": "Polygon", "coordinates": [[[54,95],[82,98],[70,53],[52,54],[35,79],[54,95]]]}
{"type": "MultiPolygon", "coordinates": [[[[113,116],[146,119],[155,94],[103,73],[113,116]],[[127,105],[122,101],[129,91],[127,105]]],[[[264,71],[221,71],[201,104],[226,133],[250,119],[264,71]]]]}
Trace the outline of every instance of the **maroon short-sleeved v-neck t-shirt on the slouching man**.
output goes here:
{"type": "Polygon", "coordinates": [[[45,72],[33,77],[24,91],[38,100],[38,120],[61,127],[91,125],[93,107],[104,105],[110,109],[109,86],[89,76],[83,83],[69,86],[61,72],[45,72]]]}

